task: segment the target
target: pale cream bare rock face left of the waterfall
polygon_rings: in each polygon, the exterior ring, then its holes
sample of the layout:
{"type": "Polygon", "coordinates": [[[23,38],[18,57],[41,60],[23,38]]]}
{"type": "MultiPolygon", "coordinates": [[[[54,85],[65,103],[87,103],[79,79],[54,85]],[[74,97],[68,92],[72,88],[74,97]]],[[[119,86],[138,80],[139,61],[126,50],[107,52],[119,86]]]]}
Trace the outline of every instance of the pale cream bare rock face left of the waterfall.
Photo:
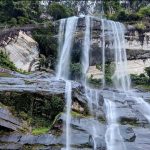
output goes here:
{"type": "Polygon", "coordinates": [[[10,60],[18,69],[28,71],[30,63],[38,58],[38,43],[23,31],[20,31],[14,38],[9,37],[9,41],[4,42],[4,47],[0,48],[9,55],[10,60]]]}

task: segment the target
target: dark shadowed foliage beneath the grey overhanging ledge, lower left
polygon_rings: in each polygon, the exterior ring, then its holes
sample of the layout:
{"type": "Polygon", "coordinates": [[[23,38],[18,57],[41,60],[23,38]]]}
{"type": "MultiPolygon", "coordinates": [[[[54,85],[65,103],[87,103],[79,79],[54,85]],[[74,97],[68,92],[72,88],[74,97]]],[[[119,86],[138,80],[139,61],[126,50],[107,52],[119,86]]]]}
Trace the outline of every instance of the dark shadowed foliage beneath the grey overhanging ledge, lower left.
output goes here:
{"type": "MultiPolygon", "coordinates": [[[[27,115],[39,118],[39,126],[41,118],[49,121],[53,120],[64,109],[64,99],[55,95],[43,96],[26,92],[1,92],[0,99],[2,99],[4,104],[13,106],[20,115],[24,112],[27,115]]],[[[23,115],[23,117],[26,116],[23,115]]],[[[33,125],[35,124],[36,121],[33,122],[33,125]]]]}

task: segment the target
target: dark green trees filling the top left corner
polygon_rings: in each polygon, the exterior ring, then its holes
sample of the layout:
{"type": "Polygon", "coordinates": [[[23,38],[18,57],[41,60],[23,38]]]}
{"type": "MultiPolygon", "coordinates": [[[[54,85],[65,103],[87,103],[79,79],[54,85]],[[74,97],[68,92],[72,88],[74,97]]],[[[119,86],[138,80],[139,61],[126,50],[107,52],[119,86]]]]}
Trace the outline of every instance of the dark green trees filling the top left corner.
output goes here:
{"type": "Polygon", "coordinates": [[[29,24],[30,20],[40,22],[40,3],[38,0],[0,1],[0,23],[10,25],[29,24]]]}

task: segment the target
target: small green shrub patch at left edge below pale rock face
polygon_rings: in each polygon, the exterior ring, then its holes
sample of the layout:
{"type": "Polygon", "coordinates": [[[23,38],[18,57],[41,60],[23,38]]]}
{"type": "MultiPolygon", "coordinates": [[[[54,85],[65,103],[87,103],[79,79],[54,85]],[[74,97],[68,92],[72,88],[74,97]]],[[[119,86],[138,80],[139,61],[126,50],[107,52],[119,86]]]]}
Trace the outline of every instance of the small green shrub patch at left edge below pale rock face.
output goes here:
{"type": "Polygon", "coordinates": [[[10,61],[8,55],[0,50],[0,66],[3,68],[11,69],[13,71],[17,71],[14,63],[10,61]]]}

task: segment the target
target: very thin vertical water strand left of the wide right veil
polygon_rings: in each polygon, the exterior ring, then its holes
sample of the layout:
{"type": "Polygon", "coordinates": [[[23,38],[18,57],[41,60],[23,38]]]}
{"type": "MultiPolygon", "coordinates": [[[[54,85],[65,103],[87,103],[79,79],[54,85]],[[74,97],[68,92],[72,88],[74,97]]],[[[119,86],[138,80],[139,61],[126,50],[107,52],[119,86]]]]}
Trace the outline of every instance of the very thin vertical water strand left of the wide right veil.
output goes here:
{"type": "Polygon", "coordinates": [[[102,72],[103,72],[103,79],[102,79],[102,86],[105,86],[105,27],[104,27],[104,19],[101,19],[102,23],[102,72]]]}

